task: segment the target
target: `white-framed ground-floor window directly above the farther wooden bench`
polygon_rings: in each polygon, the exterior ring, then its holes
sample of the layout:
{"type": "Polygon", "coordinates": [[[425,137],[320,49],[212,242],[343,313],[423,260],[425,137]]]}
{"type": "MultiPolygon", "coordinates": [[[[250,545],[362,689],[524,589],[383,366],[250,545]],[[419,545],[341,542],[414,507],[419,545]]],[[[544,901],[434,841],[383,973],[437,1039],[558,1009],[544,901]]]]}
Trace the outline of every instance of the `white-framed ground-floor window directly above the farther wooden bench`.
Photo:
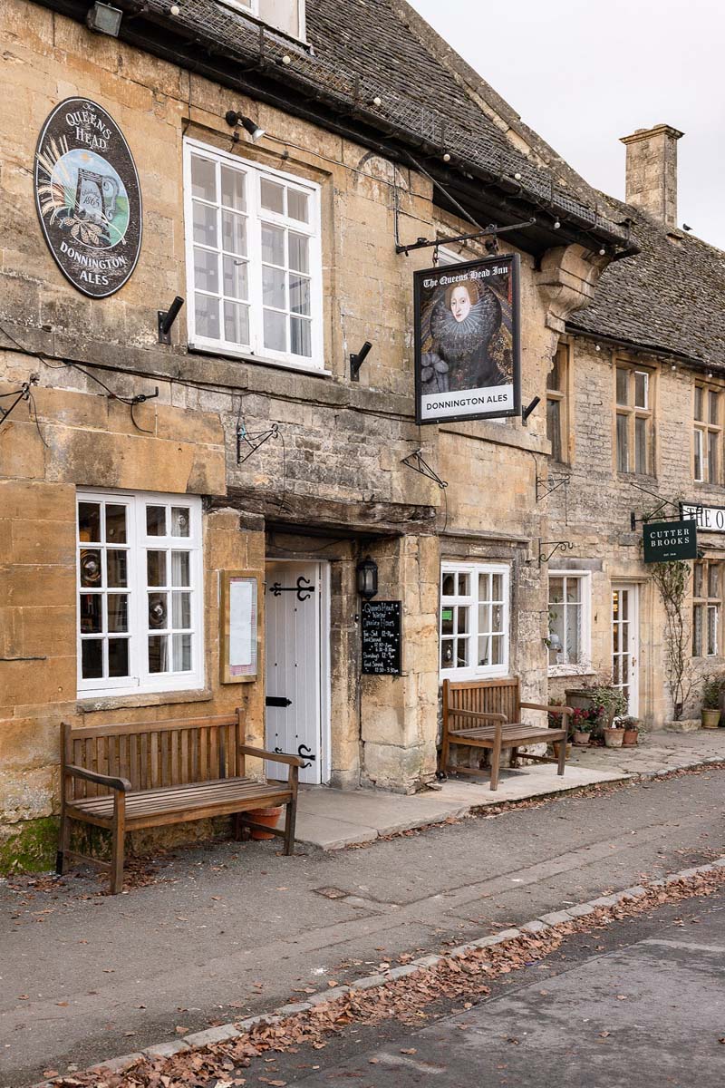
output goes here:
{"type": "Polygon", "coordinates": [[[509,668],[509,568],[445,564],[440,579],[440,675],[504,676],[509,668]]]}

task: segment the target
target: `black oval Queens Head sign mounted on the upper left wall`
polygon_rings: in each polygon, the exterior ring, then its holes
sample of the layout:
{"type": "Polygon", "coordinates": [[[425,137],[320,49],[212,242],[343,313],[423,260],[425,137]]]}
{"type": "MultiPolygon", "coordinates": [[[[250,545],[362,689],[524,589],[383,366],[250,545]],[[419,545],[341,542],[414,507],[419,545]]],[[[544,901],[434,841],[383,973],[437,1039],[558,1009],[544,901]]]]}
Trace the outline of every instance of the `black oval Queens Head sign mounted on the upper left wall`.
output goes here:
{"type": "Polygon", "coordinates": [[[123,133],[86,98],[46,121],[35,156],[35,199],[63,275],[90,298],[123,287],[141,249],[141,189],[123,133]]]}

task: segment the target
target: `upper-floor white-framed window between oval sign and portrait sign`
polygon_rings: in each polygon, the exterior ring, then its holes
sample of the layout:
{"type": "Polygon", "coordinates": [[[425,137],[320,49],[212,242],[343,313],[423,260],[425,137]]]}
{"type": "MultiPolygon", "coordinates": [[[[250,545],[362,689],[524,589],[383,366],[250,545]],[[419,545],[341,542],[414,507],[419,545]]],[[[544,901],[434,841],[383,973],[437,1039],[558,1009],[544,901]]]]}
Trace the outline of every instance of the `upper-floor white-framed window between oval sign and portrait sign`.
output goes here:
{"type": "Polygon", "coordinates": [[[189,344],[322,370],[320,187],[185,141],[189,344]]]}

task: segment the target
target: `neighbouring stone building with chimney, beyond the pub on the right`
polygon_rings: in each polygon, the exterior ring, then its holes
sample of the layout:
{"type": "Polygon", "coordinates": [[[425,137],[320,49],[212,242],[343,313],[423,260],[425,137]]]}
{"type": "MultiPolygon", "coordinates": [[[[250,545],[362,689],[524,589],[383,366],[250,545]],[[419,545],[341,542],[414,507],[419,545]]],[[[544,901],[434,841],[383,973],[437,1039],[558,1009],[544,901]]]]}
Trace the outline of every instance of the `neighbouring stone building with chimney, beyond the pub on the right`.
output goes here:
{"type": "Polygon", "coordinates": [[[723,669],[725,255],[677,225],[668,125],[627,149],[626,205],[640,252],[613,262],[595,300],[566,322],[549,378],[549,517],[571,548],[552,557],[552,693],[613,675],[630,714],[661,727],[699,715],[702,680],[723,669]],[[672,640],[642,523],[699,522],[685,626],[684,691],[673,694],[672,640]],[[636,521],[632,523],[632,516],[636,521]],[[680,710],[674,703],[683,702],[680,710]]]}

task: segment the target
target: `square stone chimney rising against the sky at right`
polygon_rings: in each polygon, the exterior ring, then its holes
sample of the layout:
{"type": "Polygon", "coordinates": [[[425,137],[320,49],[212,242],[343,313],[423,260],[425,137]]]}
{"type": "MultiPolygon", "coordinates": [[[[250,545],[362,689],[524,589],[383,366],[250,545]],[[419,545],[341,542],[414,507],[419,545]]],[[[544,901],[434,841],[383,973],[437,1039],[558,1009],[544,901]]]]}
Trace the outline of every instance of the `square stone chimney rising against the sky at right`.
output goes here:
{"type": "Polygon", "coordinates": [[[643,208],[665,226],[677,226],[677,140],[671,125],[638,128],[623,136],[627,148],[627,203],[643,208]]]}

